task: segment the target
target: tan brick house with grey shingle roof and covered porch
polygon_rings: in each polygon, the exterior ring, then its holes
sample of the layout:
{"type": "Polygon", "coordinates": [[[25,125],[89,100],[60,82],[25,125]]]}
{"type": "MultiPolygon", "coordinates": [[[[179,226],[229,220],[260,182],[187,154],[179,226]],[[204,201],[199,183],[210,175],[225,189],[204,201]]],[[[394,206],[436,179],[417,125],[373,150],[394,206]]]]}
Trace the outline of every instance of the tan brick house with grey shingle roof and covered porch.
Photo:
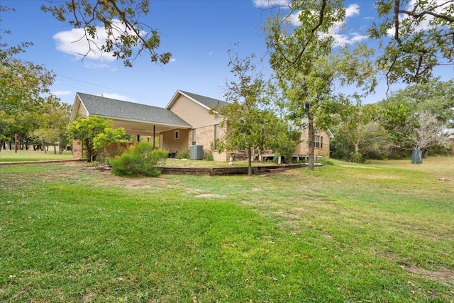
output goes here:
{"type": "MultiPolygon", "coordinates": [[[[70,121],[77,114],[104,117],[111,119],[114,127],[123,127],[138,141],[140,136],[145,136],[152,144],[159,142],[155,148],[167,150],[172,157],[195,147],[203,150],[203,154],[211,152],[216,161],[228,161],[230,153],[218,153],[215,145],[216,138],[221,138],[224,132],[220,127],[221,119],[210,114],[211,109],[226,104],[226,101],[181,90],[175,92],[165,108],[77,92],[70,121]],[[159,140],[155,140],[157,138],[159,140]]],[[[296,146],[295,155],[309,154],[307,136],[307,131],[301,133],[301,143],[296,146]]],[[[316,133],[316,155],[329,157],[332,136],[330,131],[316,133]]],[[[79,143],[73,144],[73,156],[82,156],[79,143]]]]}

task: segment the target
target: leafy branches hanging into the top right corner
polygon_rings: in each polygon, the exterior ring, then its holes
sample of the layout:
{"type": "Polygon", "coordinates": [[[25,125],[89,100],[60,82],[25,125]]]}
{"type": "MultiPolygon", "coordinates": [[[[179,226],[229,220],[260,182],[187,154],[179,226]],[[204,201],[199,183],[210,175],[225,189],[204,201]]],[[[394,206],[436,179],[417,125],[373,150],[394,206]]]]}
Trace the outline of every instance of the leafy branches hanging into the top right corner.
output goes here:
{"type": "Polygon", "coordinates": [[[379,19],[370,28],[380,38],[378,62],[388,84],[428,82],[433,69],[454,64],[453,0],[379,0],[379,19]]]}

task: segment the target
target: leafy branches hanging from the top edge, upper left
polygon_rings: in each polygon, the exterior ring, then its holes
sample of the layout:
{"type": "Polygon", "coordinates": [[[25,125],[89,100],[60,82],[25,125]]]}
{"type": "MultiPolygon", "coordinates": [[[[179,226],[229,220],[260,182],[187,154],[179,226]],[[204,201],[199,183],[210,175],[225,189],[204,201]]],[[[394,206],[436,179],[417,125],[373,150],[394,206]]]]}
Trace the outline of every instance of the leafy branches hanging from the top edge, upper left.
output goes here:
{"type": "Polygon", "coordinates": [[[143,52],[148,52],[151,62],[166,64],[172,56],[159,53],[160,33],[143,23],[141,18],[150,12],[148,0],[48,0],[41,6],[58,21],[82,28],[80,39],[87,41],[86,57],[89,53],[111,53],[123,60],[125,67],[143,52]],[[99,42],[105,37],[104,43],[99,42]]]}

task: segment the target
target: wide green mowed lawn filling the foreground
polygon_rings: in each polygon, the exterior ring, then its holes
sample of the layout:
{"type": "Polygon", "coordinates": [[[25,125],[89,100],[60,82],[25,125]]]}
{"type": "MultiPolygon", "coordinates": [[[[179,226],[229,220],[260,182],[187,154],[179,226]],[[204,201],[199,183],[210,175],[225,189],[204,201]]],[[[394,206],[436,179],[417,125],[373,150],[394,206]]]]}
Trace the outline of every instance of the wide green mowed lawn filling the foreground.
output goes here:
{"type": "Polygon", "coordinates": [[[0,166],[0,301],[454,302],[454,158],[333,163],[0,166]]]}

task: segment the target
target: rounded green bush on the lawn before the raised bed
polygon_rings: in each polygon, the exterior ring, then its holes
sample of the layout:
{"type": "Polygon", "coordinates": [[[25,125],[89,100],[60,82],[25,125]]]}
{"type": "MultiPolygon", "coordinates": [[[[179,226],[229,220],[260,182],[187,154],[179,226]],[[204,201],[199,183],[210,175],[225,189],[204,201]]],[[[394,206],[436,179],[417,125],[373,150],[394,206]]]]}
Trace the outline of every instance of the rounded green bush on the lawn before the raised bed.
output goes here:
{"type": "Polygon", "coordinates": [[[111,160],[112,172],[118,176],[157,177],[161,174],[158,166],[163,165],[167,157],[167,151],[153,150],[150,143],[140,142],[111,160]]]}

